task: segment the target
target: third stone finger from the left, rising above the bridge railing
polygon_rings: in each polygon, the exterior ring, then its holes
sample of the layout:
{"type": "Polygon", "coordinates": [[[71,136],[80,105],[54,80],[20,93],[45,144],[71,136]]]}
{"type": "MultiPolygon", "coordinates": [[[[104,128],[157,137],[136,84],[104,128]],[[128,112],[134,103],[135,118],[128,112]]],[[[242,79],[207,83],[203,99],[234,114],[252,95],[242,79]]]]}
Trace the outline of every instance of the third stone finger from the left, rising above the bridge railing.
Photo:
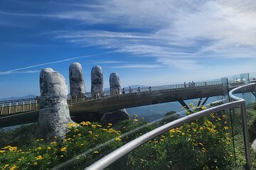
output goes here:
{"type": "Polygon", "coordinates": [[[97,93],[99,91],[100,93],[103,92],[103,72],[102,72],[102,67],[100,66],[95,66],[92,67],[92,72],[91,72],[91,84],[92,84],[92,94],[97,93]]]}

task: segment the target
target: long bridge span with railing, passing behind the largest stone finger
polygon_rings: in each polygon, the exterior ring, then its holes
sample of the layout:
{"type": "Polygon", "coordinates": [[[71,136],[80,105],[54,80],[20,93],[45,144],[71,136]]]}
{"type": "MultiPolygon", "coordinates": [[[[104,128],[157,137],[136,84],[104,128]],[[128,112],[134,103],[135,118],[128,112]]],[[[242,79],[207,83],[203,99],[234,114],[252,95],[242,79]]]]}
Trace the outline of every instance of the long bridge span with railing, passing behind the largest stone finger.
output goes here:
{"type": "MultiPolygon", "coordinates": [[[[230,87],[233,89],[235,86],[230,87]]],[[[255,91],[248,89],[247,91],[255,91]]],[[[142,89],[142,91],[127,94],[112,95],[107,94],[101,98],[72,98],[68,100],[70,115],[85,115],[87,113],[116,111],[121,108],[132,108],[146,106],[156,103],[166,103],[171,101],[184,101],[193,98],[203,98],[210,96],[223,96],[228,93],[227,86],[220,82],[204,86],[187,87],[169,86],[152,87],[142,89]]],[[[33,98],[30,101],[16,101],[16,103],[5,103],[0,107],[0,127],[19,125],[23,123],[33,123],[38,120],[39,103],[33,98]],[[27,102],[27,103],[26,103],[27,102]]]]}

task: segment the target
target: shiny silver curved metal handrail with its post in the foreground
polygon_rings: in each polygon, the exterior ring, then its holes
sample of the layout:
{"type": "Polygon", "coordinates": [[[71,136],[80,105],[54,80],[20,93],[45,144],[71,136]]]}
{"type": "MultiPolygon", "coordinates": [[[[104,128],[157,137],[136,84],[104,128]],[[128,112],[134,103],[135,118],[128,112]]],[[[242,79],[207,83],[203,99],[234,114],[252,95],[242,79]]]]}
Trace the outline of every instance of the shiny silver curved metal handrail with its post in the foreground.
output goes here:
{"type": "Polygon", "coordinates": [[[98,160],[94,164],[88,166],[86,169],[87,170],[105,169],[107,166],[109,166],[113,162],[117,161],[117,159],[119,159],[120,157],[124,156],[125,154],[128,154],[129,152],[132,152],[132,150],[143,145],[145,142],[148,142],[152,138],[154,138],[158,135],[161,135],[162,133],[164,133],[168,130],[171,130],[172,128],[175,128],[178,125],[182,125],[183,123],[188,123],[192,120],[196,120],[197,118],[201,118],[204,115],[208,115],[213,112],[223,111],[225,109],[235,108],[238,106],[241,106],[241,112],[242,112],[242,127],[243,127],[244,144],[245,144],[246,165],[248,168],[250,168],[250,166],[251,166],[250,145],[249,145],[249,137],[248,137],[248,130],[247,130],[247,115],[245,113],[245,100],[242,98],[238,98],[237,96],[233,96],[234,91],[236,91],[238,89],[245,88],[245,87],[249,87],[249,86],[255,86],[255,84],[247,84],[245,86],[240,86],[240,87],[235,88],[230,91],[229,95],[235,101],[230,102],[230,103],[225,103],[220,106],[215,106],[213,108],[208,108],[206,110],[199,111],[199,112],[193,113],[191,115],[187,115],[183,118],[179,118],[178,120],[174,120],[171,123],[167,123],[166,125],[162,125],[159,128],[151,130],[150,132],[147,132],[146,134],[144,134],[140,137],[137,137],[135,140],[128,142],[127,144],[123,145],[122,147],[119,147],[118,149],[114,150],[110,154],[107,154],[107,156],[98,160]]]}

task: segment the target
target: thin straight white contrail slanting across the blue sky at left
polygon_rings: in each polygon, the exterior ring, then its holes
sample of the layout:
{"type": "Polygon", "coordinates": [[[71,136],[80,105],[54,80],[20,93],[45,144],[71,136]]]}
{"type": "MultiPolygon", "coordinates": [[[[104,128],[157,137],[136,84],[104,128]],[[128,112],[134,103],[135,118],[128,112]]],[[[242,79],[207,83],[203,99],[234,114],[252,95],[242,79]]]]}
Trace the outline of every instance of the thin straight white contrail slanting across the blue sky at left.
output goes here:
{"type": "Polygon", "coordinates": [[[82,55],[82,56],[79,56],[79,57],[72,57],[72,58],[68,58],[68,59],[64,59],[64,60],[58,60],[58,61],[55,61],[55,62],[45,62],[45,63],[42,63],[42,64],[36,64],[36,65],[28,66],[28,67],[22,67],[22,68],[18,68],[18,69],[11,69],[11,70],[8,70],[8,71],[0,72],[0,75],[17,73],[17,71],[19,71],[19,70],[31,69],[31,68],[34,68],[34,67],[39,67],[39,66],[48,65],[48,64],[56,64],[56,63],[60,63],[60,62],[68,62],[70,60],[76,60],[76,59],[85,58],[85,57],[105,55],[107,53],[110,53],[110,52],[102,52],[100,54],[95,54],[95,55],[82,55]]]}

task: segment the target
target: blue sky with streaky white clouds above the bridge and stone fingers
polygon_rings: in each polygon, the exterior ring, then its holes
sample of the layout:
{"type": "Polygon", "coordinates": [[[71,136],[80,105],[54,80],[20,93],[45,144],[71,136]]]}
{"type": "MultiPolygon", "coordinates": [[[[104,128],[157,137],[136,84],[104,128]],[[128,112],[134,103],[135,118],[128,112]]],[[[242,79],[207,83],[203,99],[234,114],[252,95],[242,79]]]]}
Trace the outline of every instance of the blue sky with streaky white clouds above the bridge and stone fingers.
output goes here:
{"type": "Polygon", "coordinates": [[[50,67],[80,62],[105,88],[159,86],[256,72],[256,1],[1,0],[0,98],[39,95],[50,67]]]}

